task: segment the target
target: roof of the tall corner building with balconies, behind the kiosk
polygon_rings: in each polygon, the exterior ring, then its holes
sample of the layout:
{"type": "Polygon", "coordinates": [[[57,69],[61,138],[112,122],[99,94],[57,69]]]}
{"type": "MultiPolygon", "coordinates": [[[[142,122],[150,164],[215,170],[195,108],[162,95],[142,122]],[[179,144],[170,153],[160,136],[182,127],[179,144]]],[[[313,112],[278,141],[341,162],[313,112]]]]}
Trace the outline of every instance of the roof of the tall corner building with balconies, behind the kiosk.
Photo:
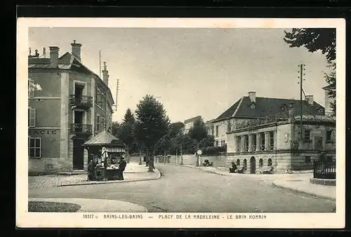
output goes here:
{"type": "MultiPolygon", "coordinates": [[[[28,57],[28,69],[52,69],[50,65],[50,58],[46,57],[28,57]]],[[[110,100],[112,104],[114,104],[114,100],[112,97],[112,93],[110,88],[100,79],[100,77],[92,72],[88,67],[86,67],[81,61],[75,57],[72,53],[66,52],[64,55],[58,58],[58,69],[74,69],[81,70],[85,69],[89,74],[93,74],[98,81],[100,81],[100,85],[105,87],[107,90],[110,100]]]]}

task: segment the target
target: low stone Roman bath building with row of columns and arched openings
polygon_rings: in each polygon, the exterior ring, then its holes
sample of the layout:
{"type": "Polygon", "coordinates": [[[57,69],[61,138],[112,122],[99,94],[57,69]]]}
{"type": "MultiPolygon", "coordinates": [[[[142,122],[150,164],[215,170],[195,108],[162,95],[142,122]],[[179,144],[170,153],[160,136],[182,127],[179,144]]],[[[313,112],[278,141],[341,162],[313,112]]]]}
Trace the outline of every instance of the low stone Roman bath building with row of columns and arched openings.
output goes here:
{"type": "Polygon", "coordinates": [[[324,151],[336,158],[335,120],[329,116],[300,116],[234,129],[227,133],[227,158],[248,173],[270,170],[311,170],[324,151]]]}

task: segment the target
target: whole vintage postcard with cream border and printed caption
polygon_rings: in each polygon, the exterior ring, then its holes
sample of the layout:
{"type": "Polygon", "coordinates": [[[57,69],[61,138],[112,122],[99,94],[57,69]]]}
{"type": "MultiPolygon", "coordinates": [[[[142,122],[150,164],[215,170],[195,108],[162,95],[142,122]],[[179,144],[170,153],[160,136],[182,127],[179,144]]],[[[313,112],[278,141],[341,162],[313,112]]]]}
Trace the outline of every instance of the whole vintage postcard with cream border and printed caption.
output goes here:
{"type": "Polygon", "coordinates": [[[18,227],[345,225],[345,20],[18,18],[17,40],[18,227]]]}

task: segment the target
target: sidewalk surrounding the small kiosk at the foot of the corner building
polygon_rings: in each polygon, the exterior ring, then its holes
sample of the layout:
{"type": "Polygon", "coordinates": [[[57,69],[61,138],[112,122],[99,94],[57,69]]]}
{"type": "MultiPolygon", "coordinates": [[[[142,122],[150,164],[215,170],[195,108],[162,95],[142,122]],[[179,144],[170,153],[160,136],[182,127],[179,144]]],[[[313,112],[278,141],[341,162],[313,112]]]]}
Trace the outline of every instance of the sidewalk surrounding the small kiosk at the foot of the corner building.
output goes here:
{"type": "Polygon", "coordinates": [[[72,175],[72,173],[61,173],[60,175],[29,176],[28,188],[37,189],[44,187],[60,187],[88,184],[105,184],[121,182],[138,182],[145,180],[157,180],[161,177],[161,172],[156,168],[154,172],[147,172],[148,167],[138,165],[138,163],[128,163],[124,170],[124,180],[112,180],[106,182],[88,181],[86,173],[72,175]]]}

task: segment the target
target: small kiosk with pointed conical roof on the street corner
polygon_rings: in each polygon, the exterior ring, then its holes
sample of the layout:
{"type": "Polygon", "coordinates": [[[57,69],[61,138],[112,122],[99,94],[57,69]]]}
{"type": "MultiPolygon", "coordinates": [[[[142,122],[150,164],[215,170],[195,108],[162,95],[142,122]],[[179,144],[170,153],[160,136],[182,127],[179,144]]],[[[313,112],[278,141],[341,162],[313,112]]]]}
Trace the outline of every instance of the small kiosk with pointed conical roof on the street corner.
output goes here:
{"type": "Polygon", "coordinates": [[[126,156],[121,140],[104,130],[83,146],[88,150],[88,180],[119,180],[119,162],[126,156]]]}

